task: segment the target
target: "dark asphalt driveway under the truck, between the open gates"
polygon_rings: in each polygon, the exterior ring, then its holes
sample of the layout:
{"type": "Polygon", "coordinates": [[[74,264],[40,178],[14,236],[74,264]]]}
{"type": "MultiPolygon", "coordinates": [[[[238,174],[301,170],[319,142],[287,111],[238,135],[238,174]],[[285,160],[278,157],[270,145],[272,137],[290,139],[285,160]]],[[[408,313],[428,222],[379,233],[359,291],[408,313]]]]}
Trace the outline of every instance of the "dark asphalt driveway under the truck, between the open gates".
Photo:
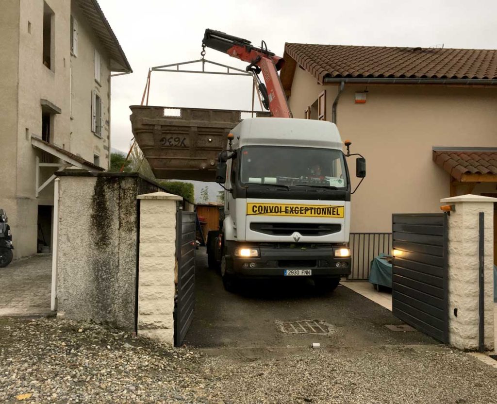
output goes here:
{"type": "MultiPolygon", "coordinates": [[[[282,281],[290,281],[283,279],[282,281]]],[[[239,293],[224,290],[219,271],[207,268],[197,250],[196,308],[185,344],[202,348],[321,347],[365,348],[379,345],[438,344],[418,331],[395,332],[401,324],[391,311],[339,286],[319,295],[305,279],[288,282],[247,282],[239,293]],[[320,320],[329,335],[281,332],[279,321],[320,320]]]]}

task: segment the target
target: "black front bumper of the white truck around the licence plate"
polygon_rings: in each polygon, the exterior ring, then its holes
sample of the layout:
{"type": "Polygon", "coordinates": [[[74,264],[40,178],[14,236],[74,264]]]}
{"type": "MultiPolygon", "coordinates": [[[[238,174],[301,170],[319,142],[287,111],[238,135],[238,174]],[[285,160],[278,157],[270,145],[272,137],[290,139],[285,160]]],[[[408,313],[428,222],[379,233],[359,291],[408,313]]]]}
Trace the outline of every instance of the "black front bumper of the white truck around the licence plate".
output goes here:
{"type": "MultiPolygon", "coordinates": [[[[231,243],[230,243],[231,244],[231,243]]],[[[259,257],[240,258],[234,254],[239,243],[227,245],[227,272],[247,278],[276,278],[285,276],[285,270],[310,269],[312,277],[338,278],[350,275],[351,258],[335,258],[333,247],[278,248],[257,246],[259,257]]],[[[336,248],[336,247],[335,247],[336,248]]]]}

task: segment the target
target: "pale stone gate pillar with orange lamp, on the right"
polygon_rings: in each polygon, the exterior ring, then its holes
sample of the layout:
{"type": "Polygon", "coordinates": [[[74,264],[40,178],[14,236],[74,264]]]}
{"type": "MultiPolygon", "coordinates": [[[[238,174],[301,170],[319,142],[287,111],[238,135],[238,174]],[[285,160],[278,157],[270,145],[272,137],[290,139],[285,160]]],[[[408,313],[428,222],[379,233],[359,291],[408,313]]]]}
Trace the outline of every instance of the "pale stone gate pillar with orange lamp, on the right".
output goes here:
{"type": "Polygon", "coordinates": [[[494,349],[494,202],[463,195],[445,198],[448,219],[449,343],[463,350],[480,347],[480,212],[484,213],[484,349],[494,349]]]}

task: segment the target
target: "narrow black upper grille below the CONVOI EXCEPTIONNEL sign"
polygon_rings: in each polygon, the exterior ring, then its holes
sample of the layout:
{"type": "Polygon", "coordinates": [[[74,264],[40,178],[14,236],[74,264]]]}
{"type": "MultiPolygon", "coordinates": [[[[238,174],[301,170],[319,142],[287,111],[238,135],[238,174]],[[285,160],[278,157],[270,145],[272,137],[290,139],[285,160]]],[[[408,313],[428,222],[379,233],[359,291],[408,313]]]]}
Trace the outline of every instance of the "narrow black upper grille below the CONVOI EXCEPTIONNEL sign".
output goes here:
{"type": "Polygon", "coordinates": [[[338,223],[250,223],[250,230],[272,236],[291,236],[296,231],[303,236],[324,236],[338,233],[340,229],[338,223]]]}

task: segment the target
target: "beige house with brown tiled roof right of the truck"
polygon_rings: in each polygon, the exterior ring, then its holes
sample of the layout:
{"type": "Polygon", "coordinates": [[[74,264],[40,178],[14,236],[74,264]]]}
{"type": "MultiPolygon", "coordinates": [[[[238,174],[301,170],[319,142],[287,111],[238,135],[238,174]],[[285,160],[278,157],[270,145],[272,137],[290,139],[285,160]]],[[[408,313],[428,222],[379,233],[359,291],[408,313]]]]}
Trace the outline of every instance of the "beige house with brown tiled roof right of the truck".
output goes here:
{"type": "Polygon", "coordinates": [[[287,43],[284,59],[293,116],[336,123],[366,158],[352,232],[389,232],[392,213],[439,212],[449,196],[497,196],[497,50],[287,43]]]}

